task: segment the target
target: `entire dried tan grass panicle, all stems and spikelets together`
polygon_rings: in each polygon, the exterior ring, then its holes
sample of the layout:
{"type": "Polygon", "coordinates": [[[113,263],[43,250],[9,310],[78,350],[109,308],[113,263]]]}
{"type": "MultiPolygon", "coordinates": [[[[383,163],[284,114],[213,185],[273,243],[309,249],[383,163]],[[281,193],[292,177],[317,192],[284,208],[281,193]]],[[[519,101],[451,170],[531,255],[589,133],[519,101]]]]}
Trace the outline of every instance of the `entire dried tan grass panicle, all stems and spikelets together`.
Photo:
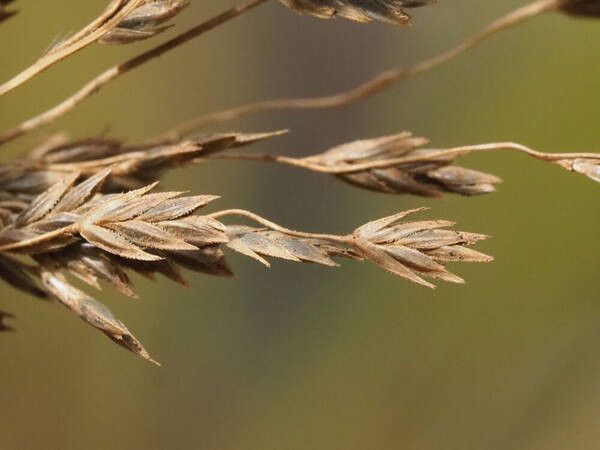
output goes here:
{"type": "MultiPolygon", "coordinates": [[[[116,65],[50,110],[0,136],[6,144],[75,108],[119,76],[156,59],[267,0],[234,6],[137,57],[116,65]]],[[[340,16],[359,22],[410,22],[405,8],[430,0],[280,0],[318,17],[340,16]]],[[[14,12],[0,0],[0,21],[14,12]]],[[[272,2],[273,3],[273,2],[272,2]]],[[[183,0],[112,0],[106,10],[79,32],[53,46],[37,62],[0,86],[0,95],[94,42],[127,44],[164,31],[186,6],[183,0]]],[[[426,197],[443,193],[477,195],[494,191],[494,175],[454,165],[476,151],[515,150],[600,182],[600,155],[543,153],[521,144],[500,142],[448,149],[426,148],[428,141],[400,133],[350,142],[320,154],[233,153],[232,150],[279,136],[270,133],[192,135],[208,123],[258,111],[340,106],[362,100],[400,81],[431,70],[466,52],[499,31],[546,11],[598,16],[597,0],[536,0],[484,27],[457,47],[412,67],[395,68],[363,85],[329,97],[283,99],[234,108],[194,119],[167,135],[141,145],[91,137],[70,140],[50,136],[27,155],[0,164],[0,278],[42,300],[68,308],[118,345],[155,362],[141,342],[101,302],[73,286],[76,278],[100,290],[104,284],[136,297],[130,273],[158,275],[187,286],[183,269],[231,277],[224,249],[269,266],[270,258],[338,266],[338,258],[371,262],[411,282],[435,287],[431,280],[464,283],[445,266],[453,262],[489,262],[472,246],[487,236],[455,231],[446,220],[410,221],[426,208],[404,211],[366,223],[344,235],[307,233],[282,227],[253,212],[227,209],[204,213],[215,195],[155,191],[163,174],[175,167],[212,159],[277,162],[326,173],[361,188],[426,197]],[[189,137],[182,139],[182,136],[189,137]],[[226,223],[243,217],[253,226],[226,223]]],[[[0,311],[0,331],[13,330],[0,311]]]]}

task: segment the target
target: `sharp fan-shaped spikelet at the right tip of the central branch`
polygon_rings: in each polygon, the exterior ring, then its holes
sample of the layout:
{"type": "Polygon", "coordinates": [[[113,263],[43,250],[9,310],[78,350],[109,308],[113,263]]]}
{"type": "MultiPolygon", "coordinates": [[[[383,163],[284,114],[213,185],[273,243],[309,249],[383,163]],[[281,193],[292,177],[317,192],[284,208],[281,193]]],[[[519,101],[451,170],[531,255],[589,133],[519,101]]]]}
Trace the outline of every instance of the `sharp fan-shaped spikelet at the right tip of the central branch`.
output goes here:
{"type": "Polygon", "coordinates": [[[357,228],[353,237],[357,250],[369,261],[407,280],[435,287],[422,277],[451,283],[464,280],[449,272],[441,263],[450,261],[490,262],[491,256],[467,246],[488,236],[446,230],[454,225],[445,220],[403,222],[410,214],[426,208],[404,211],[369,222],[357,228]]]}

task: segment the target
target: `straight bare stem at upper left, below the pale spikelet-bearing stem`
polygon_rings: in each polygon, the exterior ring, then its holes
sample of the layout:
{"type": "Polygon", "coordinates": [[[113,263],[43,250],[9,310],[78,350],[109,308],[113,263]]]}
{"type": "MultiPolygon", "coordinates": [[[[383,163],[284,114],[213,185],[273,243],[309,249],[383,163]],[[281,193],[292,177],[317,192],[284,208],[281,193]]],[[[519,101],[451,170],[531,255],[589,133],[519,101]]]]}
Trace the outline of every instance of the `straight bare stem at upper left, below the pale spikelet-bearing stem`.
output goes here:
{"type": "Polygon", "coordinates": [[[233,8],[230,8],[227,11],[213,17],[212,19],[209,19],[208,21],[186,31],[185,33],[180,34],[170,41],[148,50],[147,52],[144,52],[141,55],[130,59],[129,61],[119,64],[118,66],[114,66],[106,70],[63,102],[47,110],[46,112],[21,123],[16,128],[0,136],[0,145],[22,136],[23,134],[28,133],[29,131],[32,131],[38,127],[53,122],[58,117],[75,108],[95,92],[98,92],[102,87],[115,78],[130,72],[131,70],[147,63],[154,58],[162,56],[164,53],[167,53],[168,51],[173,50],[174,48],[179,47],[180,45],[185,44],[186,42],[218,27],[219,25],[242,15],[246,11],[265,3],[266,1],[267,0],[252,0],[248,3],[234,6],[233,8]]]}

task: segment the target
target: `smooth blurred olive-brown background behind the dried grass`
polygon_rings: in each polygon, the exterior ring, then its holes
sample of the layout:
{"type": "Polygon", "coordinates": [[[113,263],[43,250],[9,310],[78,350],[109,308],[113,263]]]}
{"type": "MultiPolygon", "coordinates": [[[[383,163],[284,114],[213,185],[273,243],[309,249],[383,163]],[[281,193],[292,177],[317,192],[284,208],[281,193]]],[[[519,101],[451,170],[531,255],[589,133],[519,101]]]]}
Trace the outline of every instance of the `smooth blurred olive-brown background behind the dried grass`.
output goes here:
{"type": "MultiPolygon", "coordinates": [[[[0,28],[0,79],[31,63],[105,0],[27,1],[0,28]]],[[[447,49],[523,0],[440,0],[415,25],[298,16],[278,2],[104,89],[52,131],[135,142],[196,114],[326,94],[447,49]]],[[[172,36],[233,5],[196,0],[172,36]]],[[[7,129],[105,68],[164,40],[88,48],[2,98],[7,129]]],[[[307,155],[411,130],[437,146],[515,140],[597,151],[600,22],[547,14],[363,103],[270,113],[214,130],[290,128],[246,151],[307,155]]],[[[328,269],[229,255],[237,277],[192,288],[136,278],[140,301],[102,299],[163,363],[120,349],[65,309],[0,287],[18,333],[0,339],[0,449],[592,449],[600,439],[599,187],[519,154],[463,160],[497,193],[430,200],[361,191],[249,162],[177,170],[163,188],[220,194],[291,227],[344,233],[416,206],[493,239],[468,283],[413,286],[368,264],[328,269]]]]}

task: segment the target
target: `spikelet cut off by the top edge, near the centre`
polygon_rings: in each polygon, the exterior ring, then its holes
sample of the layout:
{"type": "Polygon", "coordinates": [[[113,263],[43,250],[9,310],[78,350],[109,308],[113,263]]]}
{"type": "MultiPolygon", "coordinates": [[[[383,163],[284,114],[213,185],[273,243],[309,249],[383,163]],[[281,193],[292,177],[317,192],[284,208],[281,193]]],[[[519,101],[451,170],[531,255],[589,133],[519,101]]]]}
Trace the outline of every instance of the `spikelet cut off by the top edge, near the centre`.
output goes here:
{"type": "Polygon", "coordinates": [[[404,8],[434,3],[435,0],[280,0],[284,5],[300,13],[330,19],[344,17],[356,22],[373,20],[408,25],[410,16],[404,8]]]}

